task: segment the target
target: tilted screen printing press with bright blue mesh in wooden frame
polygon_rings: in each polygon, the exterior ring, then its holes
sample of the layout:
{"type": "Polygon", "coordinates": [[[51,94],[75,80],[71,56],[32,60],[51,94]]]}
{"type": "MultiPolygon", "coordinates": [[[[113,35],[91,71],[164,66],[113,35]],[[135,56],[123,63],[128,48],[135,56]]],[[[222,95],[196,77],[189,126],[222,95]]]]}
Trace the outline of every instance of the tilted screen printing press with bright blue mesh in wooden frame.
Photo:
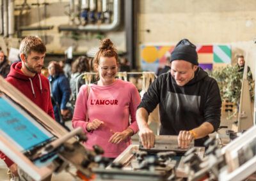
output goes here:
{"type": "Polygon", "coordinates": [[[1,76],[0,122],[0,150],[28,175],[27,180],[42,180],[69,165],[76,168],[74,177],[93,177],[94,158],[102,150],[86,150],[79,143],[86,141],[81,128],[68,133],[1,76]]]}

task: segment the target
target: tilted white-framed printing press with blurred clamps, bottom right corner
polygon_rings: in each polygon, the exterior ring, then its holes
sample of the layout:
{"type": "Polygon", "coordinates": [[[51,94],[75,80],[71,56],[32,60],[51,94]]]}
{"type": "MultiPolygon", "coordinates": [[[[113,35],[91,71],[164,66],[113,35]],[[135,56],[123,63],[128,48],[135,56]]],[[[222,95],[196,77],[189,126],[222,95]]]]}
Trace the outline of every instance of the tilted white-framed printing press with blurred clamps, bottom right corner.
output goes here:
{"type": "Polygon", "coordinates": [[[253,126],[223,148],[218,140],[210,138],[204,159],[190,151],[185,158],[188,180],[255,180],[255,133],[256,126],[253,126]]]}

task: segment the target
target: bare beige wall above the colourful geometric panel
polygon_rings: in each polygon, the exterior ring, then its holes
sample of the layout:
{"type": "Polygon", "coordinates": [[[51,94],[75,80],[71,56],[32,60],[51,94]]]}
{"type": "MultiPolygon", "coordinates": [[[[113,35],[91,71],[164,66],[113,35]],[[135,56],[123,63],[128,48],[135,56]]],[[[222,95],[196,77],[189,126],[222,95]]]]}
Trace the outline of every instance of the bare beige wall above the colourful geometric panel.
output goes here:
{"type": "Polygon", "coordinates": [[[254,0],[141,0],[138,43],[175,45],[188,38],[198,45],[228,44],[232,57],[248,52],[254,75],[255,17],[254,0]]]}

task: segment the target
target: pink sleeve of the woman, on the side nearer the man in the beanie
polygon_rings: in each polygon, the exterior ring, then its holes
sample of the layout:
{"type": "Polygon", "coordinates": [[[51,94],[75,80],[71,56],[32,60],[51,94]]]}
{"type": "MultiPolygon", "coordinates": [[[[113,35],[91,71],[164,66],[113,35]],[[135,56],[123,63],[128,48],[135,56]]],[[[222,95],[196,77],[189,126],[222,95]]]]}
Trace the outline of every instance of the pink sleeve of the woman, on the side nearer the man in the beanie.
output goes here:
{"type": "Polygon", "coordinates": [[[139,131],[139,127],[136,121],[136,110],[138,105],[140,105],[140,94],[137,90],[137,88],[132,85],[131,87],[131,91],[130,91],[130,98],[131,98],[131,103],[129,106],[129,112],[131,115],[131,124],[129,126],[129,128],[131,128],[134,132],[134,134],[136,134],[139,131]]]}

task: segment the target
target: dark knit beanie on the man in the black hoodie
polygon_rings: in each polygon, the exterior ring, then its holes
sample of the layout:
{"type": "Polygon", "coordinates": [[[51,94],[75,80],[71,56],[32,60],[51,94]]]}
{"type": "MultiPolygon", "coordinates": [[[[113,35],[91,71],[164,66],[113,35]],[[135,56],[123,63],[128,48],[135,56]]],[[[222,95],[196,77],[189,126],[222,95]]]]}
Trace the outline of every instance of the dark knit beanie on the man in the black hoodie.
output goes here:
{"type": "Polygon", "coordinates": [[[184,60],[198,66],[196,46],[187,39],[180,40],[172,51],[171,60],[184,60]]]}

